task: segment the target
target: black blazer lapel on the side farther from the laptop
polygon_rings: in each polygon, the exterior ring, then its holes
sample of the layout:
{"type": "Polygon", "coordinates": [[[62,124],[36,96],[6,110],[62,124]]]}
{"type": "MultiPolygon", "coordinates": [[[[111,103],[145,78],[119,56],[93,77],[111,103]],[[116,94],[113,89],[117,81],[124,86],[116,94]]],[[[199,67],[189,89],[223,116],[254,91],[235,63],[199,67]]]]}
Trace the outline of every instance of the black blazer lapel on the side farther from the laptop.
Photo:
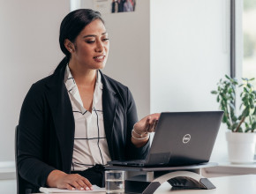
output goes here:
{"type": "Polygon", "coordinates": [[[60,146],[63,170],[70,172],[72,167],[75,123],[72,115],[72,104],[64,86],[64,71],[65,68],[56,72],[53,76],[54,80],[50,82],[54,84],[48,85],[48,101],[60,146]]]}

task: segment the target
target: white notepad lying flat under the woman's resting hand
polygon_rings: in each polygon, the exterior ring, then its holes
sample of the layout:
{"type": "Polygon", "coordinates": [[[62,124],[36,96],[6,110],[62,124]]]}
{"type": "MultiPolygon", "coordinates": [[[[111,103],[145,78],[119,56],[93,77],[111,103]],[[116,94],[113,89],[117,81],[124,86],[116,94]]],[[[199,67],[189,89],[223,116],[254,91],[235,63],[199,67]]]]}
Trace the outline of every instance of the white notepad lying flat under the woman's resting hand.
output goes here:
{"type": "Polygon", "coordinates": [[[91,192],[105,192],[105,188],[98,187],[97,185],[93,185],[94,190],[62,190],[57,188],[46,188],[41,187],[39,190],[43,193],[51,194],[51,193],[91,193],[91,192]]]}

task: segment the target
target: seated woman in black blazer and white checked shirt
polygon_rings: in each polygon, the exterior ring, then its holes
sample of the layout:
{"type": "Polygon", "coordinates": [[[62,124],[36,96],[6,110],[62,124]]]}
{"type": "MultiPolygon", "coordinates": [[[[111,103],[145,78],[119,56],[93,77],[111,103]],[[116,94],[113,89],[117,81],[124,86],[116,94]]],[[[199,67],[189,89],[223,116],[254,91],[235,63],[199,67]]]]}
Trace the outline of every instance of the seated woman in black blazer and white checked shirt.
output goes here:
{"type": "Polygon", "coordinates": [[[104,186],[109,160],[144,159],[159,114],[137,122],[129,89],[100,71],[109,38],[98,11],[69,13],[60,26],[64,59],[26,94],[19,118],[18,168],[26,188],[104,186]]]}

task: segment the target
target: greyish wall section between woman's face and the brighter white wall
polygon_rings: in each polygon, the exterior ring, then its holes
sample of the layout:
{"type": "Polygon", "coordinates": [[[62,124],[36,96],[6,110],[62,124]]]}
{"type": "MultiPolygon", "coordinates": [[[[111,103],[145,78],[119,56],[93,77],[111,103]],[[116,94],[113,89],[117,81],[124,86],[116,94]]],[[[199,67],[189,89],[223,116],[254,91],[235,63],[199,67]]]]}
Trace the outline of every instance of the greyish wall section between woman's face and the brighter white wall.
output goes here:
{"type": "MultiPolygon", "coordinates": [[[[92,0],[81,8],[94,9],[92,0]]],[[[102,14],[109,33],[109,59],[103,72],[132,91],[139,118],[150,109],[149,93],[149,1],[139,0],[136,11],[102,14]]]]}

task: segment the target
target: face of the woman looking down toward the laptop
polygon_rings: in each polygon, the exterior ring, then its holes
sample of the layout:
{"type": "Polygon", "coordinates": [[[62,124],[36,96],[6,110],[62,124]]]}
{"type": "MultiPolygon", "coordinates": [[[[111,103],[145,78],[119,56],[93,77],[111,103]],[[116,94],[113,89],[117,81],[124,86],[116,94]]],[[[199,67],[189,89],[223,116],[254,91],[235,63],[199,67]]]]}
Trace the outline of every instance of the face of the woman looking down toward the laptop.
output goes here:
{"type": "Polygon", "coordinates": [[[109,54],[109,39],[101,19],[88,24],[72,44],[72,62],[88,69],[102,69],[109,54]]]}

